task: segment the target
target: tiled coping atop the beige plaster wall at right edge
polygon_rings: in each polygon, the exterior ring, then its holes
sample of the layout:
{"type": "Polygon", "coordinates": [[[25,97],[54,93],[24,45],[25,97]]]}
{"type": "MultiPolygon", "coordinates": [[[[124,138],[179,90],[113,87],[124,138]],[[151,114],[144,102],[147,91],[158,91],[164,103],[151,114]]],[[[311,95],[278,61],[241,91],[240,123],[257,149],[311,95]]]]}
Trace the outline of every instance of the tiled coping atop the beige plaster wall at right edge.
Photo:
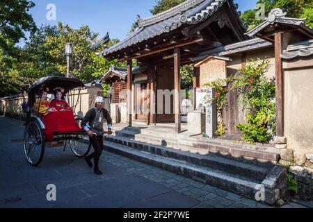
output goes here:
{"type": "Polygon", "coordinates": [[[297,57],[307,57],[313,55],[313,40],[298,42],[287,47],[281,55],[283,59],[293,59],[297,57]]]}

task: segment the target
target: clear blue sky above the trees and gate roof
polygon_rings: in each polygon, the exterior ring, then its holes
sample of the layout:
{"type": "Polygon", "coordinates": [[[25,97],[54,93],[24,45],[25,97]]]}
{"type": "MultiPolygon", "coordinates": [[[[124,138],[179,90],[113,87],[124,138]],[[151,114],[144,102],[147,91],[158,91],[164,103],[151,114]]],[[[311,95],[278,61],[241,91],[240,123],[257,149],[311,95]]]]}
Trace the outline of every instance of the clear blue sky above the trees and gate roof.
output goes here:
{"type": "MultiPolygon", "coordinates": [[[[82,25],[90,26],[91,31],[103,37],[106,32],[111,38],[124,39],[136,21],[136,15],[141,18],[150,17],[150,9],[156,0],[32,0],[35,7],[30,13],[35,23],[51,24],[57,22],[69,24],[73,28],[82,25]],[[47,5],[54,3],[56,6],[56,21],[46,19],[47,5]]],[[[254,8],[257,0],[234,0],[243,12],[254,8]]]]}

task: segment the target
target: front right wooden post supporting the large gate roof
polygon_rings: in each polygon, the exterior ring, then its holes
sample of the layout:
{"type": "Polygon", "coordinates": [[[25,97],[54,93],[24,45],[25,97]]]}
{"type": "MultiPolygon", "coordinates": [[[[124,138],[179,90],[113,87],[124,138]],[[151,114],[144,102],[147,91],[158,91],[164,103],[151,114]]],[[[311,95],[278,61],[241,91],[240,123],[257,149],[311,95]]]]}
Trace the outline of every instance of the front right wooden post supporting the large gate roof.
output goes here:
{"type": "Polygon", "coordinates": [[[174,104],[175,104],[175,133],[181,133],[182,126],[181,126],[181,119],[180,116],[180,49],[174,49],[174,89],[175,89],[175,96],[174,96],[174,104]]]}

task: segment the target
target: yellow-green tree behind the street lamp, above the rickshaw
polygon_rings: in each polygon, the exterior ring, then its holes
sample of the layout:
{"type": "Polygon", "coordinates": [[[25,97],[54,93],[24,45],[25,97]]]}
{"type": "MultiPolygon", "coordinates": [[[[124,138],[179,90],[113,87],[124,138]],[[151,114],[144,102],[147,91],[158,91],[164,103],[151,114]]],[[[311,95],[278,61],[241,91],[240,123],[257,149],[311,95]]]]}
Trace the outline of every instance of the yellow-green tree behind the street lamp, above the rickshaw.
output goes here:
{"type": "MultiPolygon", "coordinates": [[[[95,44],[97,36],[88,26],[78,29],[61,23],[58,26],[41,26],[22,49],[22,59],[17,64],[19,76],[24,76],[24,81],[29,83],[42,76],[65,76],[65,43],[72,42],[70,74],[84,82],[101,78],[111,65],[120,63],[115,60],[109,62],[96,55],[101,48],[94,51],[91,46],[95,44]]],[[[111,40],[107,46],[117,42],[111,40]]]]}

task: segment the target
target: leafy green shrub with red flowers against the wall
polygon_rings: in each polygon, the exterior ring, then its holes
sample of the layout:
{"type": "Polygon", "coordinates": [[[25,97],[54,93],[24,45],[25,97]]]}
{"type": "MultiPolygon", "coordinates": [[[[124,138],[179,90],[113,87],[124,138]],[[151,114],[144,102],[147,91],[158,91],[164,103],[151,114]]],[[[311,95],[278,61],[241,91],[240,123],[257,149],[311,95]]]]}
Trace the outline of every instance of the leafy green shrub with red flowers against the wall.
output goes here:
{"type": "Polygon", "coordinates": [[[275,80],[266,77],[269,67],[268,60],[252,60],[233,78],[247,119],[236,127],[250,143],[269,142],[275,133],[275,80]]]}

